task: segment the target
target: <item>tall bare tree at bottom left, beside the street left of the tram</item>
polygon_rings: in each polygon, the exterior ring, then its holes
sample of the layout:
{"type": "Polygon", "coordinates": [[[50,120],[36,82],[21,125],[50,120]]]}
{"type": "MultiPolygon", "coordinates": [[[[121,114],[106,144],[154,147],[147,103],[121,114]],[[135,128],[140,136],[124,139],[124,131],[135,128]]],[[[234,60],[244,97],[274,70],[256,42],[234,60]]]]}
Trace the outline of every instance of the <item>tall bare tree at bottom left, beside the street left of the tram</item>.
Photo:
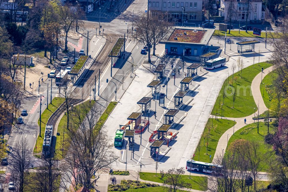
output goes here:
{"type": "Polygon", "coordinates": [[[11,163],[11,178],[14,182],[16,191],[26,191],[28,188],[29,166],[33,164],[31,152],[29,151],[29,143],[26,138],[22,138],[13,148],[11,163]]]}

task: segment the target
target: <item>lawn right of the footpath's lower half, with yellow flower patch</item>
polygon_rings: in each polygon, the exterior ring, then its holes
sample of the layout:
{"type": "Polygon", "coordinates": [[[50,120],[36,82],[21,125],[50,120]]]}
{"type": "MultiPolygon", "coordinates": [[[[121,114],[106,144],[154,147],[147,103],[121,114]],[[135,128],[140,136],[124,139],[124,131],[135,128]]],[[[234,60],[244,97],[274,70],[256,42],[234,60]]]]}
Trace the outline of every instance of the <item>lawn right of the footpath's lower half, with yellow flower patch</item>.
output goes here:
{"type": "MultiPolygon", "coordinates": [[[[273,133],[274,130],[274,126],[270,123],[269,124],[269,132],[273,133]]],[[[269,145],[267,143],[265,143],[264,139],[265,139],[265,135],[267,135],[267,125],[265,125],[263,122],[259,122],[259,134],[257,133],[257,121],[255,121],[255,123],[246,125],[245,127],[242,127],[241,129],[239,129],[238,131],[236,131],[234,133],[234,135],[231,136],[231,138],[228,141],[228,147],[229,144],[237,139],[245,139],[245,140],[249,140],[249,141],[253,141],[253,142],[257,142],[259,144],[259,155],[261,155],[260,157],[262,157],[264,160],[262,162],[260,162],[259,167],[263,167],[263,169],[261,170],[262,172],[268,172],[269,171],[269,162],[266,161],[266,159],[274,159],[273,157],[269,157],[270,154],[274,155],[273,150],[272,150],[272,145],[269,145]],[[251,127],[251,126],[255,126],[255,129],[252,129],[251,131],[248,132],[247,135],[243,134],[240,135],[240,132],[242,130],[244,130],[246,127],[251,127]],[[267,155],[266,153],[269,153],[269,155],[267,155]]]]}

